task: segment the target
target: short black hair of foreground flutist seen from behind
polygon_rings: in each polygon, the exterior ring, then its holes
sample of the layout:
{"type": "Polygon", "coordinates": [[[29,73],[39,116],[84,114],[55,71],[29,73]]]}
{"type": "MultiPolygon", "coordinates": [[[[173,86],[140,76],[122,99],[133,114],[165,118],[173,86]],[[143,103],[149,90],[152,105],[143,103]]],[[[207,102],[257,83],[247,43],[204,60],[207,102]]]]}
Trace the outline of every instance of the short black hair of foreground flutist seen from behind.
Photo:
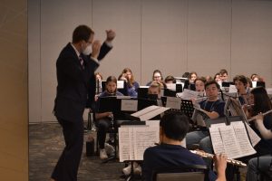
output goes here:
{"type": "Polygon", "coordinates": [[[167,138],[181,141],[189,131],[189,119],[181,113],[170,111],[160,119],[160,129],[167,138]]]}

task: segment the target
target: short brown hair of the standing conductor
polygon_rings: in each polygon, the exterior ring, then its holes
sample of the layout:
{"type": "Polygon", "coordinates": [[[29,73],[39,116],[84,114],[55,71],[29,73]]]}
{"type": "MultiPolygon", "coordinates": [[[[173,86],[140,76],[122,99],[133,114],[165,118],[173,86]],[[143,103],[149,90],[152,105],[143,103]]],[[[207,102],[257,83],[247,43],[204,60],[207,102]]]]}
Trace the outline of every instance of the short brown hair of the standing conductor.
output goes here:
{"type": "Polygon", "coordinates": [[[73,43],[79,43],[82,40],[88,42],[91,34],[94,32],[89,26],[79,25],[73,30],[73,43]]]}

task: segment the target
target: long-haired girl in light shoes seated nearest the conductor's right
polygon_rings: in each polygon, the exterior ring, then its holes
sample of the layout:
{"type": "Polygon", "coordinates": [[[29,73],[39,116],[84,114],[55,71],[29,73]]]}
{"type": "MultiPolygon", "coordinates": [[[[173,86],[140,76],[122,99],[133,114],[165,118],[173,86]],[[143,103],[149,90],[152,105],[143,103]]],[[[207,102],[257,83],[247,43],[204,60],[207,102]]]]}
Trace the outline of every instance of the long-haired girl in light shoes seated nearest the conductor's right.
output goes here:
{"type": "MultiPolygon", "coordinates": [[[[104,90],[97,101],[97,108],[99,108],[99,99],[102,97],[109,97],[109,96],[122,96],[121,92],[117,91],[117,80],[114,76],[110,76],[106,80],[106,90],[104,90]]],[[[98,109],[97,109],[98,110],[98,109]]],[[[98,128],[97,131],[97,140],[99,142],[100,148],[100,158],[106,159],[108,158],[106,150],[105,150],[105,139],[107,130],[111,127],[111,119],[113,119],[112,112],[95,112],[95,123],[96,127],[98,128]]]]}

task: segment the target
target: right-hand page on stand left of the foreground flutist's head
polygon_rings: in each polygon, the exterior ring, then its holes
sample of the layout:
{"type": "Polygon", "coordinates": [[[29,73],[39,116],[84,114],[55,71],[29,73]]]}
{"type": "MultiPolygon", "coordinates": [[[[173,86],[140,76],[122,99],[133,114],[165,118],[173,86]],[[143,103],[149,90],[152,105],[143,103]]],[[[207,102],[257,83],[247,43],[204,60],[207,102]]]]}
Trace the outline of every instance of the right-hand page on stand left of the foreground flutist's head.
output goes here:
{"type": "Polygon", "coordinates": [[[135,160],[143,160],[146,148],[154,147],[160,141],[160,133],[157,127],[133,128],[135,160]]]}

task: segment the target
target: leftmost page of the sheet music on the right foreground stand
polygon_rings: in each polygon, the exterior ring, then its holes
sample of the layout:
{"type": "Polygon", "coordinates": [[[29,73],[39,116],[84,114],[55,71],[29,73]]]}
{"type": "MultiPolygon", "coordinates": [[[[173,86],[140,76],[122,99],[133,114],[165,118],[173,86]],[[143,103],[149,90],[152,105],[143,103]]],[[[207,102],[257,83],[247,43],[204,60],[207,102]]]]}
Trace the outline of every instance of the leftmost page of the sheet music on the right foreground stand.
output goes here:
{"type": "MultiPolygon", "coordinates": [[[[226,126],[226,125],[223,125],[226,126]]],[[[209,128],[209,134],[211,138],[212,148],[214,150],[214,153],[220,154],[220,153],[226,153],[224,144],[219,132],[219,127],[210,127],[209,128]]]]}

